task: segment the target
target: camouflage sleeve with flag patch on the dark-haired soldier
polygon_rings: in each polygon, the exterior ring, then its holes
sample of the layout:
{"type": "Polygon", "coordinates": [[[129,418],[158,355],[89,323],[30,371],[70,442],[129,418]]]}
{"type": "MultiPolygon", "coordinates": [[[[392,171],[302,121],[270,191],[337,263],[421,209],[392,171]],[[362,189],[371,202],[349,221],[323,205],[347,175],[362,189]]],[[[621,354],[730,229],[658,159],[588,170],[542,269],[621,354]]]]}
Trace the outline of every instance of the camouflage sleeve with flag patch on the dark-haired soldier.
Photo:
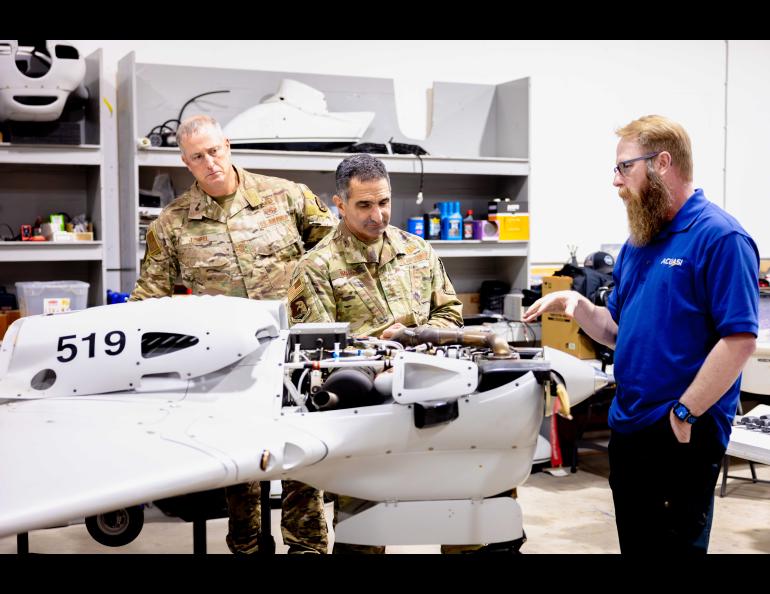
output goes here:
{"type": "Polygon", "coordinates": [[[318,266],[311,254],[305,254],[294,269],[287,295],[289,324],[334,322],[337,305],[325,266],[318,266]]]}

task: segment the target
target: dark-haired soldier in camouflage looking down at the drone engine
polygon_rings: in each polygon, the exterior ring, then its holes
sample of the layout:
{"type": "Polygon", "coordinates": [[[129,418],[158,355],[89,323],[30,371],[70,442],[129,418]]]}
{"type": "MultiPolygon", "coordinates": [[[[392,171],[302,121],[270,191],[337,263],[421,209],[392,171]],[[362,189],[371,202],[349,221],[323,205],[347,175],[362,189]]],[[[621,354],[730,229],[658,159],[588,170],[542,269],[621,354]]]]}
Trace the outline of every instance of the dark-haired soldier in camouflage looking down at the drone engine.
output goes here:
{"type": "MultiPolygon", "coordinates": [[[[350,322],[353,334],[385,339],[405,326],[462,326],[462,303],[431,246],[388,224],[390,179],[382,161],[348,157],[336,184],[343,220],[300,259],[289,288],[291,323],[350,322]]],[[[336,496],[335,524],[340,508],[360,503],[336,496]]],[[[334,543],[335,554],[383,552],[334,543]]]]}

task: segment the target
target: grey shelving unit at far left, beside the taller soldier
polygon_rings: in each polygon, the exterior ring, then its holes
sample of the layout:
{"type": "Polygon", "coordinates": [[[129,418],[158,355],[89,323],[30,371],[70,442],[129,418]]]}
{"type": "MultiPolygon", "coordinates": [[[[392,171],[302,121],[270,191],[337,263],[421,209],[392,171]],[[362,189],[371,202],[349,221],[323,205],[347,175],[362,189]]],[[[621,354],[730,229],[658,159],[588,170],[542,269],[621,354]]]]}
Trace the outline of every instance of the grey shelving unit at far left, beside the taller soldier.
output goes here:
{"type": "MultiPolygon", "coordinates": [[[[107,265],[119,267],[120,226],[117,220],[108,224],[104,216],[119,209],[118,112],[113,113],[112,105],[117,104],[114,82],[104,77],[102,50],[84,60],[83,85],[88,98],[62,120],[77,124],[82,144],[57,143],[55,136],[39,136],[41,143],[0,142],[0,211],[8,226],[5,236],[49,213],[66,212],[85,214],[98,240],[0,241],[0,286],[13,292],[17,282],[87,282],[87,305],[91,307],[104,304],[107,286],[118,286],[115,280],[107,282],[107,265]]],[[[119,280],[117,275],[113,278],[119,280]]]]}

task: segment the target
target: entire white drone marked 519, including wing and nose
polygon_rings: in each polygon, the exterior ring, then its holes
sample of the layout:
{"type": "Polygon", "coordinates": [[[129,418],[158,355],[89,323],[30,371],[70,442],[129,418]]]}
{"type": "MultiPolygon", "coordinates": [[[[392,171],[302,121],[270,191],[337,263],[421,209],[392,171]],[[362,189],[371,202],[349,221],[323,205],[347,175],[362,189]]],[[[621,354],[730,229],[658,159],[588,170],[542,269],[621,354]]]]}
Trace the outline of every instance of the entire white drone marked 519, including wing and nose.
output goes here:
{"type": "MultiPolygon", "coordinates": [[[[320,345],[324,327],[339,324],[317,326],[320,338],[309,338],[320,345]]],[[[573,403],[607,383],[548,348],[521,361],[459,347],[345,358],[301,345],[308,336],[297,331],[282,302],[224,296],[14,322],[0,350],[0,536],[291,478],[373,502],[338,523],[341,542],[514,540],[521,510],[495,495],[529,475],[548,376],[560,376],[573,403]],[[490,384],[501,366],[515,379],[490,384]],[[347,408],[302,405],[298,374],[345,367],[391,367],[383,375],[392,377],[375,381],[375,403],[350,394],[347,408]]]]}

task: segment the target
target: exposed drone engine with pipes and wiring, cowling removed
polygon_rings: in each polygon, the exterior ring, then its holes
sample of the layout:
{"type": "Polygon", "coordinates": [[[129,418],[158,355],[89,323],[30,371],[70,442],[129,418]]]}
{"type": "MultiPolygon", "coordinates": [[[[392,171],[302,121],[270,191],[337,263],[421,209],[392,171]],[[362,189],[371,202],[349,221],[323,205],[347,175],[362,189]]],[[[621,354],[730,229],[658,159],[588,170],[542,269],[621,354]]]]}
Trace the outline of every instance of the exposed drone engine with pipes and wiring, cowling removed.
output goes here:
{"type": "Polygon", "coordinates": [[[492,390],[528,371],[546,381],[550,372],[542,349],[513,349],[484,327],[404,328],[384,340],[351,337],[347,323],[293,326],[286,368],[284,404],[307,411],[390,399],[424,406],[492,390]]]}

